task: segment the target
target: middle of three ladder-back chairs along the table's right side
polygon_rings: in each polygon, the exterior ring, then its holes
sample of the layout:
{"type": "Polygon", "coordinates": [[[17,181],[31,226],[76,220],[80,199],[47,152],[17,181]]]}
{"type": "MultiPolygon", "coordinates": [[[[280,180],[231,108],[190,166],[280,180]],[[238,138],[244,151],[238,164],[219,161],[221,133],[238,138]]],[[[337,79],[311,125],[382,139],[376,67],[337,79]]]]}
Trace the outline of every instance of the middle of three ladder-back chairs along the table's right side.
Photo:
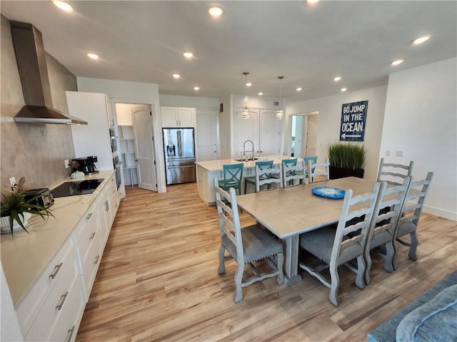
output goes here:
{"type": "Polygon", "coordinates": [[[371,228],[365,245],[365,284],[370,284],[371,251],[378,247],[384,257],[384,269],[393,271],[393,257],[395,257],[396,229],[400,219],[401,208],[405,201],[406,193],[411,182],[411,177],[405,177],[403,184],[396,187],[387,187],[386,182],[381,183],[381,189],[376,203],[376,212],[371,219],[371,228]]]}

